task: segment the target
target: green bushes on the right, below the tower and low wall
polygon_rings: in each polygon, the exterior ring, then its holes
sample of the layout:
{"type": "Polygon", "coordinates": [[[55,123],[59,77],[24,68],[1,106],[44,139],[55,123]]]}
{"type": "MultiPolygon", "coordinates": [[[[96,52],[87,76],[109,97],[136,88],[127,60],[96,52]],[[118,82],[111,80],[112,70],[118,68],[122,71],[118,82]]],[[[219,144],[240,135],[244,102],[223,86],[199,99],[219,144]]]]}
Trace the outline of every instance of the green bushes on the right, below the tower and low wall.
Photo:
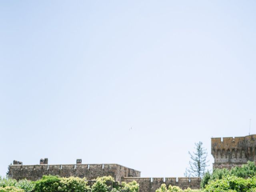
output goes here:
{"type": "Polygon", "coordinates": [[[182,190],[176,186],[167,188],[162,184],[156,192],[256,192],[256,166],[249,161],[231,170],[215,169],[212,174],[206,172],[200,190],[182,190]]]}

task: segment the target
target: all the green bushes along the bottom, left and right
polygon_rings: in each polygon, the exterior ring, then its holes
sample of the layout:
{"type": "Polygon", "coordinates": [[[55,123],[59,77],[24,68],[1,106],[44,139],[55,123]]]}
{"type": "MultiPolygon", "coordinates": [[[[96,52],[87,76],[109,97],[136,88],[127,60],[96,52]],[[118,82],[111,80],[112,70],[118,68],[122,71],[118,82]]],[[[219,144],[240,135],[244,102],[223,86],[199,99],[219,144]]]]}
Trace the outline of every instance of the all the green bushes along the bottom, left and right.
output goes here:
{"type": "MultiPolygon", "coordinates": [[[[119,184],[111,176],[97,178],[94,182],[85,178],[61,178],[43,176],[31,182],[28,180],[7,179],[0,177],[0,192],[138,192],[139,185],[133,181],[119,184]]],[[[256,192],[256,166],[248,162],[242,167],[231,170],[216,169],[212,174],[206,172],[201,182],[202,189],[182,190],[177,186],[162,184],[156,192],[256,192]]]]}

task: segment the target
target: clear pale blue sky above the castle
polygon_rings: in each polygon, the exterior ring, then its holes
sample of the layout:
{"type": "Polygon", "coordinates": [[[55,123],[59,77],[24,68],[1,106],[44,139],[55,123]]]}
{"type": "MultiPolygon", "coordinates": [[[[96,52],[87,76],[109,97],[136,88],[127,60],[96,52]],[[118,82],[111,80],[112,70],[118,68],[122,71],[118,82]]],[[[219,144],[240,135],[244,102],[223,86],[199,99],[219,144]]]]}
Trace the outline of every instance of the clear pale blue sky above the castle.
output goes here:
{"type": "Polygon", "coordinates": [[[202,141],[256,134],[256,1],[0,2],[0,175],[116,163],[182,177],[202,141]]]}

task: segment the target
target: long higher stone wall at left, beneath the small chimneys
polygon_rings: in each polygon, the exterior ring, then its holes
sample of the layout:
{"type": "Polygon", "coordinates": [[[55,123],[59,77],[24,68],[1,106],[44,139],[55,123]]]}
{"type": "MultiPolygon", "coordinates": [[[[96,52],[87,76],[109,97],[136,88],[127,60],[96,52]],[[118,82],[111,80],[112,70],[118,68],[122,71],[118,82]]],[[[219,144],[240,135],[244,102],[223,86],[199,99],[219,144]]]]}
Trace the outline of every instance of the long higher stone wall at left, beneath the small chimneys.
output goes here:
{"type": "Polygon", "coordinates": [[[140,177],[140,172],[118,164],[10,165],[9,177],[16,180],[38,180],[43,175],[85,177],[88,180],[110,175],[120,182],[123,177],[140,177]]]}

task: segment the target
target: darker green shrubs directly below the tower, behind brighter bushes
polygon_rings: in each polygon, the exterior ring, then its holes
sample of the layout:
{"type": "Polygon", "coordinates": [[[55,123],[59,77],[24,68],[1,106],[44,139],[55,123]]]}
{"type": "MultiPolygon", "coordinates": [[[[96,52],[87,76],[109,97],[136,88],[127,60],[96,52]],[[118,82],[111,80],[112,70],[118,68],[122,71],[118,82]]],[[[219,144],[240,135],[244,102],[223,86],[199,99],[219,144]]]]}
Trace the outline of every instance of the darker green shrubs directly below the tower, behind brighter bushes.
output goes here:
{"type": "Polygon", "coordinates": [[[215,169],[212,174],[206,172],[201,181],[201,188],[205,188],[205,186],[212,180],[226,178],[228,175],[241,178],[251,178],[253,176],[256,176],[255,163],[248,161],[247,164],[244,164],[241,167],[234,167],[231,170],[215,169]]]}

